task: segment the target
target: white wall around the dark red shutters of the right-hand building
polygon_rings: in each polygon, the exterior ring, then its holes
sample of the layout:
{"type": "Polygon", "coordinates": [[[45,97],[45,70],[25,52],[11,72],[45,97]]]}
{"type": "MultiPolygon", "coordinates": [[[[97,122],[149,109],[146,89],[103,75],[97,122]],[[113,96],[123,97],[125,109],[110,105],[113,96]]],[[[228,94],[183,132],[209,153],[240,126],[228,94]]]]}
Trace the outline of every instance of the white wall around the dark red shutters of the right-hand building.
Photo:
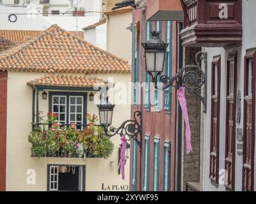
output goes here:
{"type": "MultiPolygon", "coordinates": [[[[207,114],[205,115],[205,138],[204,138],[204,191],[225,191],[225,186],[215,187],[209,179],[209,158],[210,158],[210,131],[211,131],[211,61],[214,55],[221,54],[221,96],[220,96],[220,170],[224,169],[225,164],[225,117],[226,117],[226,80],[227,80],[227,56],[232,51],[237,51],[237,91],[241,91],[242,96],[242,114],[240,124],[237,128],[243,128],[243,96],[244,96],[244,55],[246,49],[256,47],[256,1],[243,1],[243,42],[239,47],[229,48],[205,48],[208,55],[207,72],[207,114]]],[[[256,147],[256,145],[255,145],[256,147]]],[[[256,163],[256,156],[255,161],[256,163]]],[[[242,165],[243,156],[236,154],[236,191],[242,190],[242,165]]],[[[255,172],[254,172],[255,174],[255,172]]],[[[256,175],[255,175],[256,176],[256,175]]],[[[256,178],[254,177],[255,182],[256,178]]],[[[256,186],[255,186],[256,190],[256,186]]]]}

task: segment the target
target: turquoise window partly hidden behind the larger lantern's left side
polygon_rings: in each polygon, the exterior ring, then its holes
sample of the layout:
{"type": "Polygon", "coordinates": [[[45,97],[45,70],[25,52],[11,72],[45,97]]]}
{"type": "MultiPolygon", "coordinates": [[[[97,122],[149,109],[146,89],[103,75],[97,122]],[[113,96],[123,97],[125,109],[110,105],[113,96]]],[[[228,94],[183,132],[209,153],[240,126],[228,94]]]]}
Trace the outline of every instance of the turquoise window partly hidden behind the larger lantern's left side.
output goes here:
{"type": "MultiPolygon", "coordinates": [[[[146,22],[146,41],[150,39],[150,31],[151,31],[151,21],[146,22]]],[[[150,82],[151,82],[151,77],[147,73],[145,73],[145,110],[150,111],[151,108],[151,103],[150,103],[150,82]]]]}

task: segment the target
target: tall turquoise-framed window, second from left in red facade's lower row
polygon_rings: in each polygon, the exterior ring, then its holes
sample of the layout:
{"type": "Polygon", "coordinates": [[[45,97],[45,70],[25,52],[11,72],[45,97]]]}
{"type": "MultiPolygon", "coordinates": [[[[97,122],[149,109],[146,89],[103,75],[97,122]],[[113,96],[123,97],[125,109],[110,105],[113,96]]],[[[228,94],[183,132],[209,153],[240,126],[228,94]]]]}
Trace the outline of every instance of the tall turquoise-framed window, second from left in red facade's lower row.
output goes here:
{"type": "Polygon", "coordinates": [[[143,163],[143,191],[149,188],[149,155],[150,155],[150,137],[145,135],[144,138],[144,163],[143,163]]]}

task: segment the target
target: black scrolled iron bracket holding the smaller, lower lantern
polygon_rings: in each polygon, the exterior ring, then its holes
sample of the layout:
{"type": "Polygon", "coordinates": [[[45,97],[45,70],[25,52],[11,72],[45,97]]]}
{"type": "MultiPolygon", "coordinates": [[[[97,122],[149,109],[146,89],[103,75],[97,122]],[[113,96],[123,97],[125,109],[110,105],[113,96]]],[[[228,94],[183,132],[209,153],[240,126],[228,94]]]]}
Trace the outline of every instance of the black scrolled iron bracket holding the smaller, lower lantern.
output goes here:
{"type": "Polygon", "coordinates": [[[141,133],[141,119],[142,114],[140,111],[134,112],[133,120],[125,120],[119,128],[113,126],[102,126],[107,136],[112,137],[115,135],[124,135],[129,137],[129,141],[132,139],[138,143],[141,148],[141,141],[138,139],[138,135],[141,133]],[[140,120],[140,121],[139,121],[140,120]]]}

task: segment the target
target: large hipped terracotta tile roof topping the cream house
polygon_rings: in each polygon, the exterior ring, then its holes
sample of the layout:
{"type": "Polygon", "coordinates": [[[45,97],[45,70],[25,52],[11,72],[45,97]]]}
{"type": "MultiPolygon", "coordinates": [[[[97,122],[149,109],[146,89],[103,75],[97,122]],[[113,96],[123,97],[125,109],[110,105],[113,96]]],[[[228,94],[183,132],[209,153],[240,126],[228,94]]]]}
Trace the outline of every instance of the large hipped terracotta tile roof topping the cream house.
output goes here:
{"type": "Polygon", "coordinates": [[[53,73],[129,73],[124,59],[81,40],[58,25],[0,53],[0,70],[53,73]]]}

